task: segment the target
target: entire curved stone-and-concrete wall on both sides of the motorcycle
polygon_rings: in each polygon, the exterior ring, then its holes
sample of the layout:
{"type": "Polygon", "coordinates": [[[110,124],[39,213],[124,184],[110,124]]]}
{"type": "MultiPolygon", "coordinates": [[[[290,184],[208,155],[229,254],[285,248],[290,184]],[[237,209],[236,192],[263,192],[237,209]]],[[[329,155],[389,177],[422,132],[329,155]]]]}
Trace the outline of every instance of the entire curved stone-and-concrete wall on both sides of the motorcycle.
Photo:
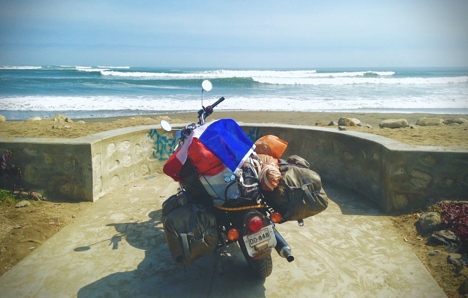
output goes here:
{"type": "MultiPolygon", "coordinates": [[[[267,134],[287,141],[283,157],[307,159],[325,187],[332,182],[351,188],[388,212],[416,208],[428,199],[466,199],[468,194],[467,147],[408,146],[377,135],[313,126],[240,125],[252,141],[267,134]]],[[[96,201],[119,185],[162,173],[174,143],[174,132],[147,125],[77,139],[0,138],[0,149],[13,150],[11,162],[23,169],[23,187],[96,201]]]]}

